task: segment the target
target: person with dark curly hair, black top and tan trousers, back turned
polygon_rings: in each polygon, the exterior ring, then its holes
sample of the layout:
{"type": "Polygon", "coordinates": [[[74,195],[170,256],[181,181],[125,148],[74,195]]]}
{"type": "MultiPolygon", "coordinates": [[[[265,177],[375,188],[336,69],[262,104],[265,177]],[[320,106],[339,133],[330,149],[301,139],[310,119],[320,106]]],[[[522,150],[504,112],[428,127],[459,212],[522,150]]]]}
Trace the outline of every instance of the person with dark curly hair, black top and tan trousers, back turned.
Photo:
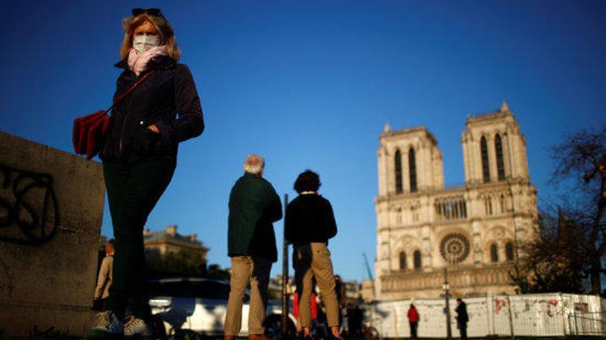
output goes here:
{"type": "Polygon", "coordinates": [[[285,237],[293,244],[293,267],[299,293],[301,326],[309,337],[311,324],[311,287],[315,277],[326,306],[326,319],[333,337],[339,338],[339,311],[335,293],[335,275],[328,239],[337,234],[333,207],[320,196],[320,177],[311,170],[302,172],[295,181],[299,193],[286,207],[285,237]]]}

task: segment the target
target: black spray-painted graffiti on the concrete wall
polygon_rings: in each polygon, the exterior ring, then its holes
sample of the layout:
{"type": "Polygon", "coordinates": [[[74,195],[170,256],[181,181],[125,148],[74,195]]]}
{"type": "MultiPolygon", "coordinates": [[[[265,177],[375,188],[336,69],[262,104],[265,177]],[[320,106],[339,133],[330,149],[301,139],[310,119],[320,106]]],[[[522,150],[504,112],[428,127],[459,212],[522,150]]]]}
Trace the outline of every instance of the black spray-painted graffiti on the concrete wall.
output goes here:
{"type": "Polygon", "coordinates": [[[41,245],[58,225],[53,177],[0,164],[0,240],[41,245]]]}

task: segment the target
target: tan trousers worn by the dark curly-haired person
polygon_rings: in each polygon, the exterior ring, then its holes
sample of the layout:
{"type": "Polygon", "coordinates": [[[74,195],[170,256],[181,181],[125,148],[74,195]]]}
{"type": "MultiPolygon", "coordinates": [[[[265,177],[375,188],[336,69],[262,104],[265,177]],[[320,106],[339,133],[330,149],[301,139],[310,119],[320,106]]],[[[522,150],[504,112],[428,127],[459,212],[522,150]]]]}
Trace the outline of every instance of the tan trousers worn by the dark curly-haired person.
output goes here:
{"type": "Polygon", "coordinates": [[[299,315],[302,327],[311,325],[311,286],[315,277],[317,286],[322,293],[322,301],[326,306],[328,326],[339,326],[339,307],[335,293],[335,275],[331,252],[324,243],[300,245],[293,251],[293,267],[295,281],[299,292],[299,315]]]}

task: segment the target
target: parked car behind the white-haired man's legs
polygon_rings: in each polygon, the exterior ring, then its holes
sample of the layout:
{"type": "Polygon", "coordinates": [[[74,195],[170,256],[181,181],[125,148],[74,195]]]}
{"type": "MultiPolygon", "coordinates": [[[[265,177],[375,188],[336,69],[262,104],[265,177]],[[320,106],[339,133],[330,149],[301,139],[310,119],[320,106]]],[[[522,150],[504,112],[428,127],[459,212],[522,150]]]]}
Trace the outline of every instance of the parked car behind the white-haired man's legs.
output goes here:
{"type": "MultiPolygon", "coordinates": [[[[223,335],[224,320],[229,297],[229,281],[184,277],[151,280],[148,284],[149,306],[154,315],[154,324],[159,332],[169,336],[189,332],[205,335],[223,335]]],[[[246,336],[249,317],[249,292],[244,295],[242,306],[242,330],[246,336]]],[[[295,331],[296,319],[289,308],[291,334],[295,331]]],[[[270,300],[265,313],[265,333],[269,338],[282,335],[282,306],[278,300],[270,300]]]]}

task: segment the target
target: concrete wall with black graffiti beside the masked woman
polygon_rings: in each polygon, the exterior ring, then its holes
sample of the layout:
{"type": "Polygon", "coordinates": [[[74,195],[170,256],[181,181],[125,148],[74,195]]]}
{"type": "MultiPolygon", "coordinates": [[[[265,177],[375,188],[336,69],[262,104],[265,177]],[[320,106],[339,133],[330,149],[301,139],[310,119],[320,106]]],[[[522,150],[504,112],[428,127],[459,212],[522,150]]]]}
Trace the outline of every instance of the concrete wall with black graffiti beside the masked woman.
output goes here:
{"type": "Polygon", "coordinates": [[[96,280],[100,163],[0,132],[0,329],[84,334],[96,280]]]}

